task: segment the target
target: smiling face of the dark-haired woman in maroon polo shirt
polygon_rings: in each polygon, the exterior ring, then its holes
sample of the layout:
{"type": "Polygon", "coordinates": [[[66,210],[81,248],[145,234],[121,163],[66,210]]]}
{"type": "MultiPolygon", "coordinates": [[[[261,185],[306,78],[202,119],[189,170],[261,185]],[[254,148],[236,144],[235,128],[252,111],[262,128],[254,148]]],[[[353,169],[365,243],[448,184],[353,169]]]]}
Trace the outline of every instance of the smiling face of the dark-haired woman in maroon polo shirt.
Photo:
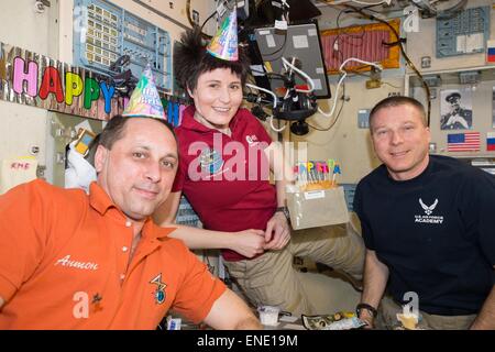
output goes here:
{"type": "Polygon", "coordinates": [[[217,130],[226,130],[242,103],[241,77],[230,68],[217,68],[199,76],[194,91],[199,122],[217,130]]]}

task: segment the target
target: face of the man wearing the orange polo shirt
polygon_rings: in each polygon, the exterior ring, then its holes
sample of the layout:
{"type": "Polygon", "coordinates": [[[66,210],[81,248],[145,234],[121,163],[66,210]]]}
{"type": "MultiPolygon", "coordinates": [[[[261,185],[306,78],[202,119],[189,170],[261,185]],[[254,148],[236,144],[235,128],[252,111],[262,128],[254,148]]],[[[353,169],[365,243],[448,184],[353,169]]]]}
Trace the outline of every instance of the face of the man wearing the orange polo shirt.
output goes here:
{"type": "Polygon", "coordinates": [[[166,199],[177,170],[177,144],[160,121],[129,118],[110,150],[98,146],[98,184],[130,219],[142,221],[166,199]]]}

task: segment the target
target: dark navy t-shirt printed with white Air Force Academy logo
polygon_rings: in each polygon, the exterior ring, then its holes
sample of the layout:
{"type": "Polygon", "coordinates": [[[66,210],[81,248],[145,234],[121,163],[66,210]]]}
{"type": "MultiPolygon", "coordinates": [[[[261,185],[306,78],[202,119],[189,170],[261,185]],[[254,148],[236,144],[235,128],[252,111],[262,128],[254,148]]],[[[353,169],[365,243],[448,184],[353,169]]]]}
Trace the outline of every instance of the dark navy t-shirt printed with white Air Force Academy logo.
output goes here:
{"type": "Polygon", "coordinates": [[[447,156],[405,182],[382,165],[359,183],[354,209],[397,302],[415,292],[428,314],[481,309],[495,284],[494,176],[447,156]]]}

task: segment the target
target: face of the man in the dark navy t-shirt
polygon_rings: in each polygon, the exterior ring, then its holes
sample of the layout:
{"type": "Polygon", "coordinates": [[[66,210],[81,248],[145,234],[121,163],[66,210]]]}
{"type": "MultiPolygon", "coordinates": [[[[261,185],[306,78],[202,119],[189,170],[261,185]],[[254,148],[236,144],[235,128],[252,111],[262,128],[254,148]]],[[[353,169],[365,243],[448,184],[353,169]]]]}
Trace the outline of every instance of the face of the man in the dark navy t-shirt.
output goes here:
{"type": "Polygon", "coordinates": [[[373,146],[392,178],[411,179],[428,166],[430,130],[411,105],[380,109],[371,120],[373,146]]]}

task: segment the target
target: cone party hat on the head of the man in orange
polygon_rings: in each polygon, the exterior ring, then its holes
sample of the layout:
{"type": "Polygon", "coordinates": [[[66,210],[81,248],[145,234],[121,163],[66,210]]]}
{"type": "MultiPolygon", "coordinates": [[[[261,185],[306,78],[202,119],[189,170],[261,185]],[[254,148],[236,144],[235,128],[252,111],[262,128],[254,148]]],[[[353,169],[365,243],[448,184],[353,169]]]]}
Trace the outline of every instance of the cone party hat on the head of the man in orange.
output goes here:
{"type": "Polygon", "coordinates": [[[165,119],[162,100],[160,99],[150,64],[144,68],[122,116],[127,118],[165,119]]]}

